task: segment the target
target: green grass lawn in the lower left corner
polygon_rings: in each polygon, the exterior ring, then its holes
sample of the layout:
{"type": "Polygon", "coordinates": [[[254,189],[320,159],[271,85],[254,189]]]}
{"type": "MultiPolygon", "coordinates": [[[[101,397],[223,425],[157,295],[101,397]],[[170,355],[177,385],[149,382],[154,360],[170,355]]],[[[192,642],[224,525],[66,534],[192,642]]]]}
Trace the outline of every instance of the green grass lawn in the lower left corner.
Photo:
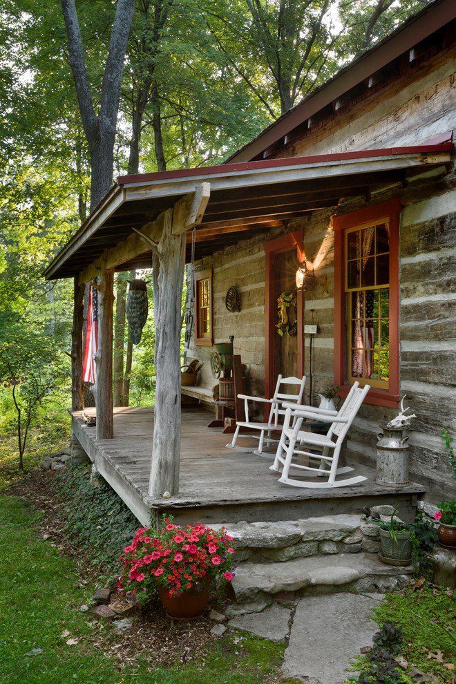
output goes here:
{"type": "Polygon", "coordinates": [[[261,684],[281,663],[283,647],[247,638],[240,649],[229,636],[214,641],[204,662],[152,672],[140,662],[120,672],[93,645],[91,614],[79,611],[94,587],[77,589],[75,563],[37,537],[37,522],[23,501],[0,497],[1,684],[261,684]],[[66,645],[64,630],[79,643],[66,645]],[[34,648],[42,653],[27,656],[34,648]]]}

